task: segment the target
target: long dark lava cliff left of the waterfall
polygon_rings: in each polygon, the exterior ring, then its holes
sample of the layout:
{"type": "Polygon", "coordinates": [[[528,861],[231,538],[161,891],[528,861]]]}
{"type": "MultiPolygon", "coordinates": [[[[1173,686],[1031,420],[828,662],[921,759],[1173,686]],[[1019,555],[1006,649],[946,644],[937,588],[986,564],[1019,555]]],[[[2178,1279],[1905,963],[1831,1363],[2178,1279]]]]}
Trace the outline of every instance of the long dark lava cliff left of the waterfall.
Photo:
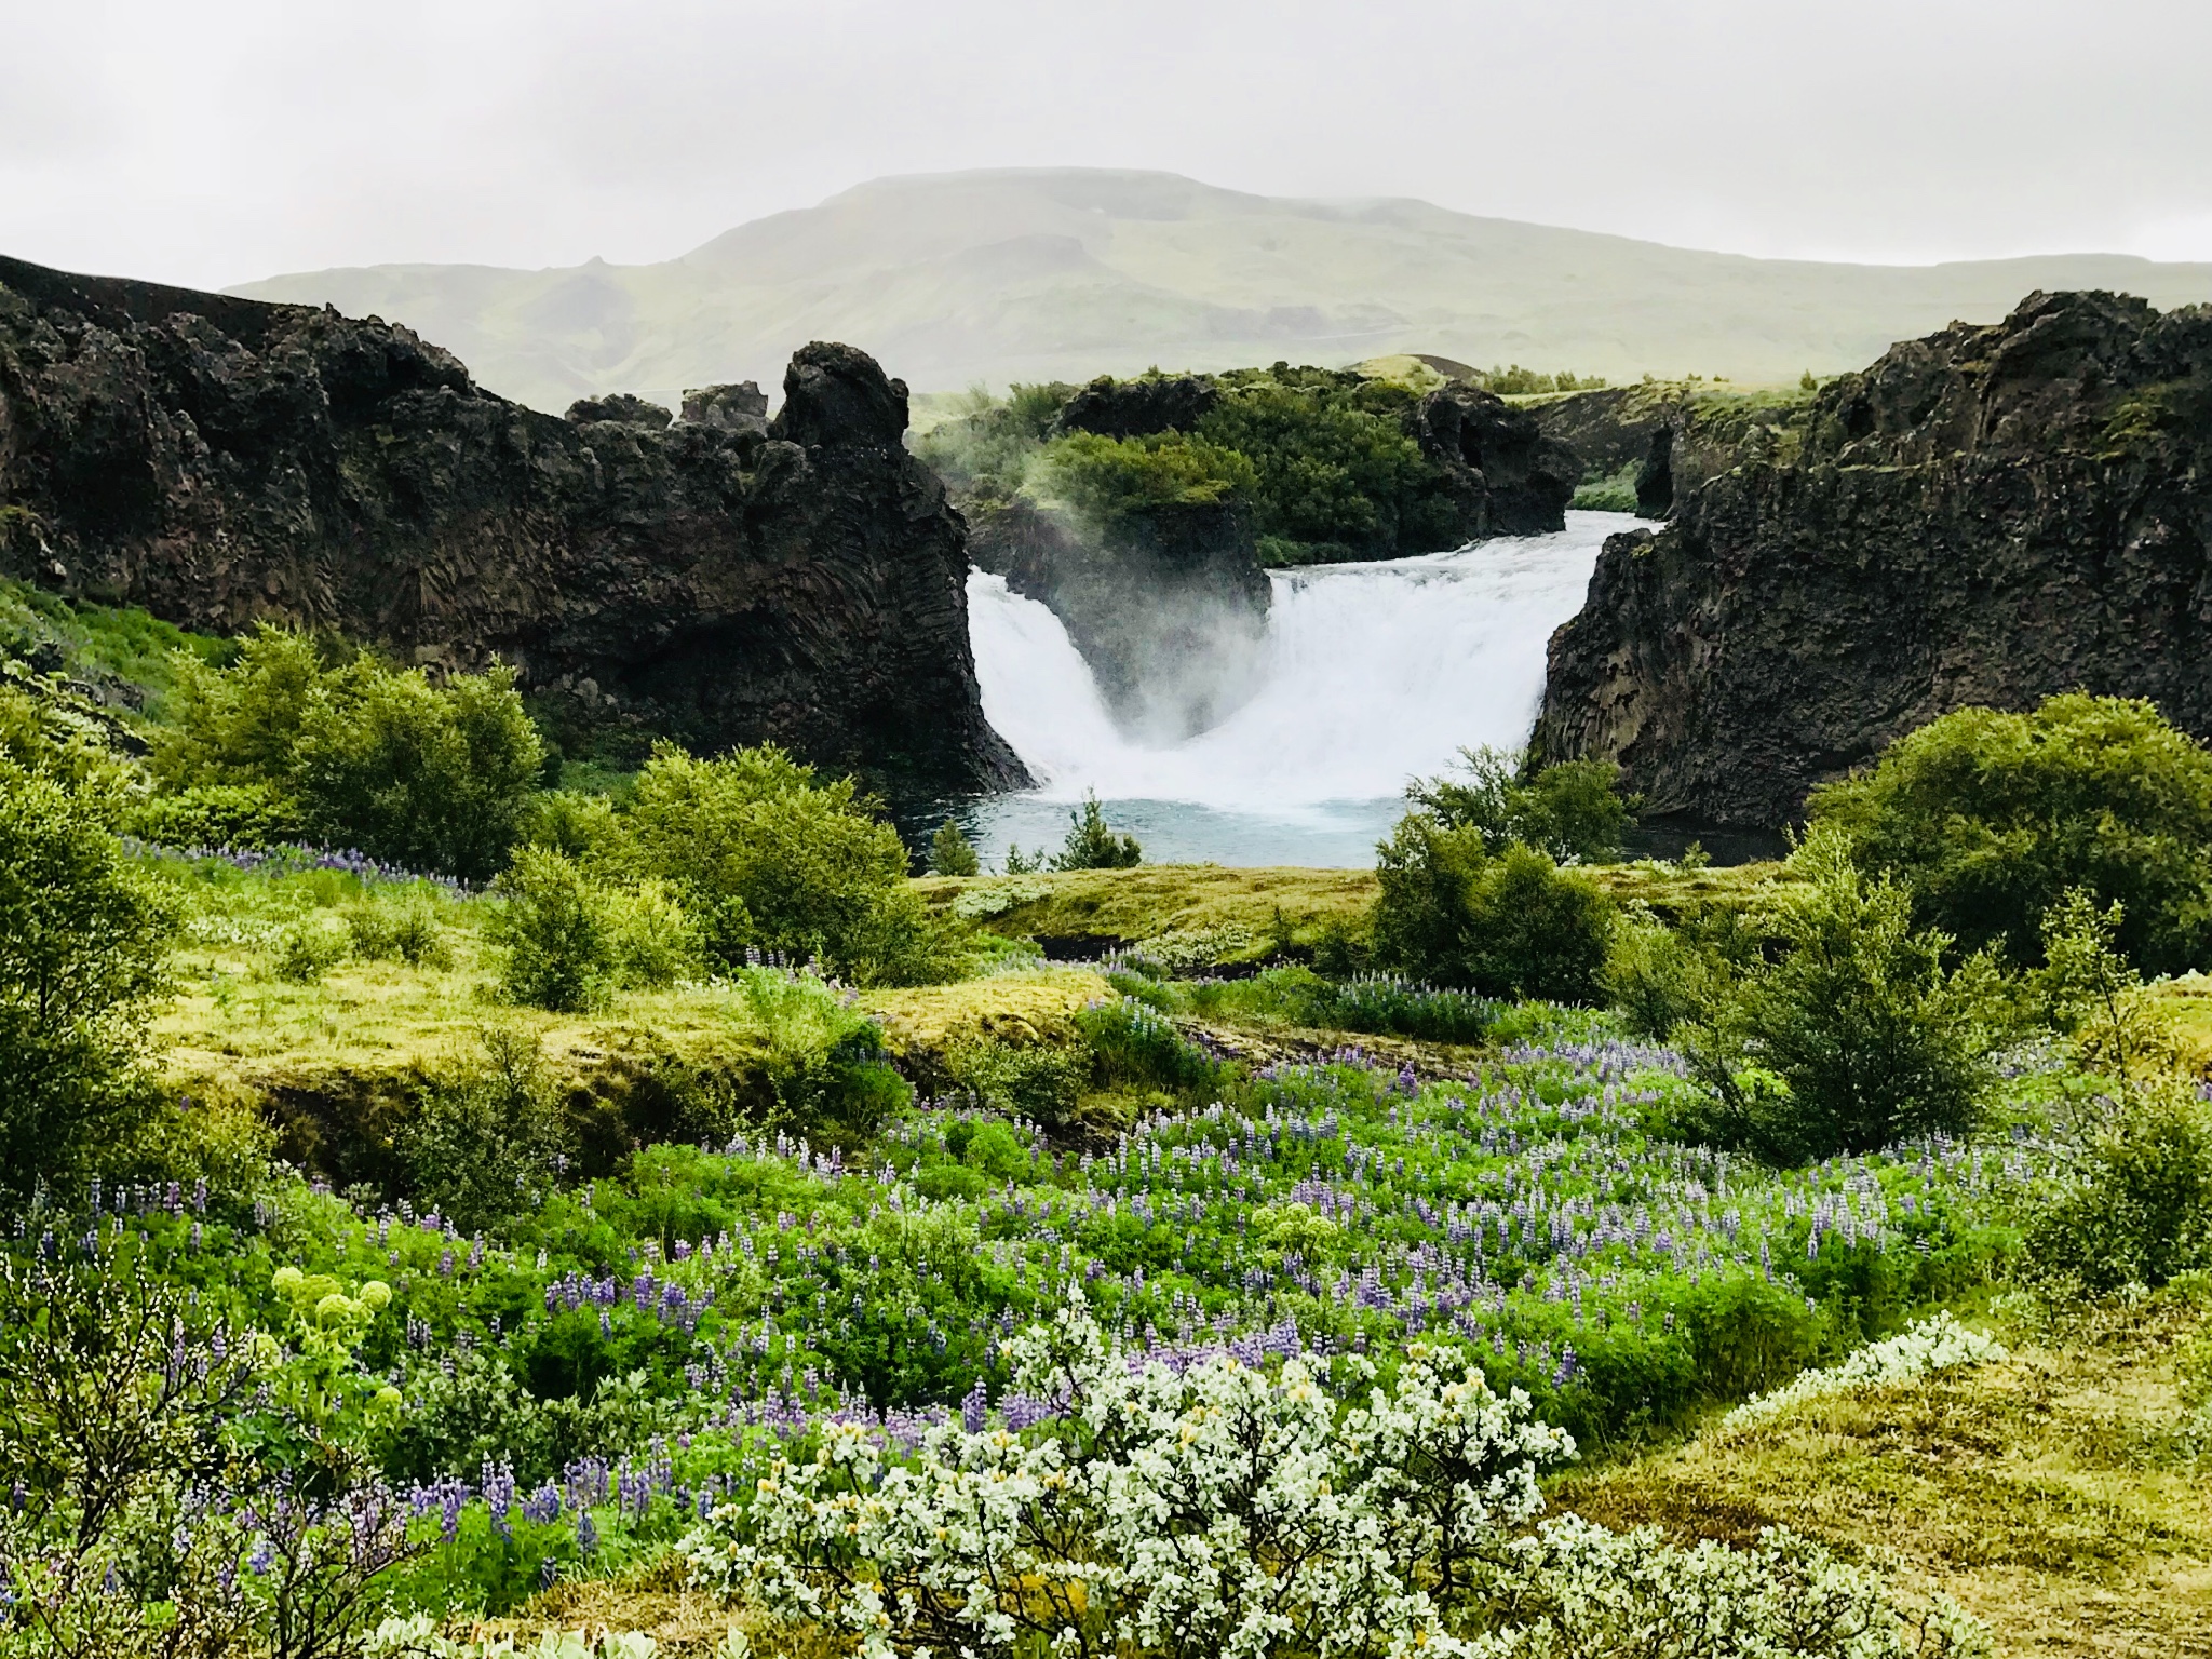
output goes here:
{"type": "Polygon", "coordinates": [[[568,730],[1026,781],[905,385],[810,345],[765,436],[633,403],[557,420],[405,327],[0,261],[0,566],[190,628],[498,655],[568,730]]]}

